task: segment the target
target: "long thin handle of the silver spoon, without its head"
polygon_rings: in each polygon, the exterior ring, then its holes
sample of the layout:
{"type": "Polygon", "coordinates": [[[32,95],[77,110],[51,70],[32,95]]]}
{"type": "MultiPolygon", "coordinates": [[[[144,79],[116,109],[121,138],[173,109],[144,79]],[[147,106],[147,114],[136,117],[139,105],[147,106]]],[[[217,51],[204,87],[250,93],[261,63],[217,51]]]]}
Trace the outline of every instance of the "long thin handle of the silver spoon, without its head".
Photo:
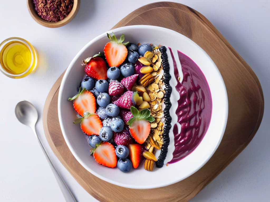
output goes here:
{"type": "Polygon", "coordinates": [[[40,141],[40,139],[38,137],[38,134],[36,133],[35,127],[33,127],[32,129],[33,129],[33,131],[34,131],[34,133],[35,133],[35,135],[36,135],[36,137],[38,139],[39,145],[42,148],[42,151],[45,154],[45,157],[46,157],[47,161],[49,162],[49,165],[50,165],[50,167],[52,169],[52,172],[53,172],[53,174],[54,174],[54,176],[56,178],[56,181],[57,181],[57,183],[58,183],[58,185],[59,185],[59,187],[60,187],[60,189],[61,189],[61,191],[63,193],[63,196],[64,196],[66,202],[77,202],[75,197],[73,196],[73,194],[69,190],[68,186],[66,185],[65,181],[63,180],[63,178],[59,174],[58,170],[55,168],[55,165],[53,165],[52,160],[50,159],[46,149],[44,148],[42,142],[40,141]]]}

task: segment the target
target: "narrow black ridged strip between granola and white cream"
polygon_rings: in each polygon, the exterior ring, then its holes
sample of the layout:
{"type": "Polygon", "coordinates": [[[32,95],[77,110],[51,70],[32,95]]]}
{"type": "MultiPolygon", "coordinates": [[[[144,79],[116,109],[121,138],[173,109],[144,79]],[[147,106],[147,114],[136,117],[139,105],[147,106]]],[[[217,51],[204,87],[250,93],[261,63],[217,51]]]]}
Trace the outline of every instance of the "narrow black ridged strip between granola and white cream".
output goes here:
{"type": "Polygon", "coordinates": [[[171,102],[170,102],[170,97],[171,97],[171,92],[172,88],[170,86],[170,65],[168,62],[168,55],[166,53],[167,48],[165,46],[161,46],[159,48],[161,52],[161,64],[164,70],[164,84],[165,84],[165,95],[164,95],[164,104],[165,104],[165,109],[163,111],[164,113],[164,129],[163,129],[163,134],[162,134],[162,139],[163,139],[163,145],[161,147],[161,152],[160,155],[158,156],[158,159],[156,161],[156,166],[157,168],[162,168],[164,165],[165,158],[167,156],[168,152],[168,145],[170,143],[170,137],[169,137],[169,132],[171,129],[171,116],[170,116],[170,108],[171,108],[171,102]]]}

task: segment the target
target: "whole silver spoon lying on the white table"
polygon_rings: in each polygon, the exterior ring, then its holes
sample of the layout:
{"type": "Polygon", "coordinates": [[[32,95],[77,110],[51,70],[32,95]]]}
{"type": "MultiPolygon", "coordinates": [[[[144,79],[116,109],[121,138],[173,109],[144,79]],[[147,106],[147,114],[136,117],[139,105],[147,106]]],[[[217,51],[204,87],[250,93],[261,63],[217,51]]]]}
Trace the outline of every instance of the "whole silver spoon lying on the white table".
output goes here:
{"type": "Polygon", "coordinates": [[[40,144],[40,146],[45,154],[45,157],[50,164],[50,167],[53,171],[53,174],[55,175],[56,181],[58,182],[58,185],[59,185],[59,187],[60,187],[60,189],[65,197],[65,200],[67,202],[74,202],[74,201],[76,202],[75,197],[73,196],[73,194],[69,190],[68,186],[64,182],[63,178],[60,176],[59,172],[57,171],[57,169],[53,165],[52,160],[50,159],[42,142],[40,141],[38,135],[36,134],[36,127],[35,126],[36,126],[36,122],[38,120],[38,112],[37,112],[35,106],[32,105],[31,102],[28,102],[26,100],[18,102],[18,104],[15,107],[15,115],[16,115],[17,119],[22,124],[29,126],[34,131],[36,138],[38,139],[38,142],[39,142],[39,144],[40,144]]]}

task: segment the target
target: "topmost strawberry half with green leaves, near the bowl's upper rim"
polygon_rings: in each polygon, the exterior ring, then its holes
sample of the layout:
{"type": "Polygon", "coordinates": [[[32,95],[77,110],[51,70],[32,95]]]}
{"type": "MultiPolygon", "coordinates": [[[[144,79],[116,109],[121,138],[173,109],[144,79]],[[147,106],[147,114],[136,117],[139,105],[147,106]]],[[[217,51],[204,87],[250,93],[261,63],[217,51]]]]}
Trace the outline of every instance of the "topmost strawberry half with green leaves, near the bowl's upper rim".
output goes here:
{"type": "Polygon", "coordinates": [[[104,54],[106,57],[106,60],[110,67],[118,67],[120,64],[126,60],[127,57],[127,48],[124,43],[124,34],[122,34],[120,40],[117,40],[114,33],[112,37],[107,33],[108,38],[110,39],[110,42],[108,42],[104,47],[104,54]]]}

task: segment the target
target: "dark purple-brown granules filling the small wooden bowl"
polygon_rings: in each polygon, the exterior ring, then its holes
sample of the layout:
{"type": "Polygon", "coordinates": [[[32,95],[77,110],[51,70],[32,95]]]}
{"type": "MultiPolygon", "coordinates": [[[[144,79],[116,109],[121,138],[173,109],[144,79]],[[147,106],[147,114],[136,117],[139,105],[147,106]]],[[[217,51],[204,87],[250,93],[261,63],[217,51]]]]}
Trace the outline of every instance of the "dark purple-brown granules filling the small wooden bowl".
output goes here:
{"type": "Polygon", "coordinates": [[[48,22],[63,20],[72,10],[73,0],[33,0],[35,11],[48,22]]]}

